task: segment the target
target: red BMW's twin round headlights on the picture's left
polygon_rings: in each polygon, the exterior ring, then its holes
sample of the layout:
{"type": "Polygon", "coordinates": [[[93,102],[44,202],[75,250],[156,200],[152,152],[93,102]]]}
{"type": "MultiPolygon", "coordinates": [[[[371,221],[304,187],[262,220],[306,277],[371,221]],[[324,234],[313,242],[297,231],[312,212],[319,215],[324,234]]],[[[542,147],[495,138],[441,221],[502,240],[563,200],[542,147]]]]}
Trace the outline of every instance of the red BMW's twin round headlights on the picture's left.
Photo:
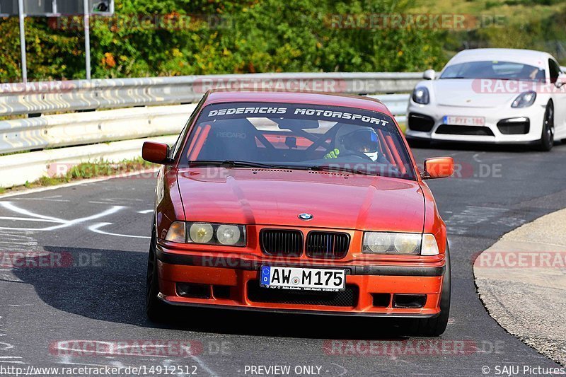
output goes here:
{"type": "Polygon", "coordinates": [[[187,227],[188,243],[246,246],[246,228],[243,225],[188,223],[187,227]]]}

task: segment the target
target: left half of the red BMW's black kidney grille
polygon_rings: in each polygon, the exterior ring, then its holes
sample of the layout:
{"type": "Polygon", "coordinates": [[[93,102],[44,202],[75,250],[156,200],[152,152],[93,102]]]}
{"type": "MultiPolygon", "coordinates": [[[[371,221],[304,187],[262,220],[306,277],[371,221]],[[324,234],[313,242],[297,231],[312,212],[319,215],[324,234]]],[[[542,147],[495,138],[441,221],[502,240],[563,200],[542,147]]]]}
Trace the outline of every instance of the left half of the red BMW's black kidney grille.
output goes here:
{"type": "Polygon", "coordinates": [[[268,255],[299,257],[303,253],[303,232],[286,229],[262,229],[260,247],[268,255]]]}

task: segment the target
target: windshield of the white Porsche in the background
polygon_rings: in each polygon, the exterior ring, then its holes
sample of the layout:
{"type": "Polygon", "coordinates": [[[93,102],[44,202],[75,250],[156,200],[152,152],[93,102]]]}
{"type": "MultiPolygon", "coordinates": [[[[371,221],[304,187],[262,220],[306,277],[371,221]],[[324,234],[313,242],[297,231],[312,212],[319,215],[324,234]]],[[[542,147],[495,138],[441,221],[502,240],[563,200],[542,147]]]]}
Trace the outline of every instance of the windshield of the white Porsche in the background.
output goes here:
{"type": "Polygon", "coordinates": [[[466,62],[447,66],[440,79],[502,79],[536,80],[545,79],[544,69],[515,62],[466,62]]]}

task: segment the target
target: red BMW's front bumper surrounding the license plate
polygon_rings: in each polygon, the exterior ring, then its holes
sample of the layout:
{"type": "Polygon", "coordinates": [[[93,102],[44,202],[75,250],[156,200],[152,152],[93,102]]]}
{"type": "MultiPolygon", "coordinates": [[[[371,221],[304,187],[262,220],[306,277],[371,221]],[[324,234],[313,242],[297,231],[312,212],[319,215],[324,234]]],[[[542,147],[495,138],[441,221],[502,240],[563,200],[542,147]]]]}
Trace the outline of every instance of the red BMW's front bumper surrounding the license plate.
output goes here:
{"type": "Polygon", "coordinates": [[[444,260],[431,265],[410,263],[344,265],[276,262],[265,257],[226,257],[223,253],[170,253],[156,250],[159,298],[175,306],[193,306],[243,311],[362,315],[376,317],[429,318],[439,314],[444,260]],[[331,267],[346,270],[346,291],[308,293],[259,286],[261,265],[331,267]],[[198,296],[179,293],[179,286],[198,286],[198,296]],[[191,285],[192,284],[192,285],[191,285]],[[426,297],[422,307],[395,305],[400,296],[426,297]]]}

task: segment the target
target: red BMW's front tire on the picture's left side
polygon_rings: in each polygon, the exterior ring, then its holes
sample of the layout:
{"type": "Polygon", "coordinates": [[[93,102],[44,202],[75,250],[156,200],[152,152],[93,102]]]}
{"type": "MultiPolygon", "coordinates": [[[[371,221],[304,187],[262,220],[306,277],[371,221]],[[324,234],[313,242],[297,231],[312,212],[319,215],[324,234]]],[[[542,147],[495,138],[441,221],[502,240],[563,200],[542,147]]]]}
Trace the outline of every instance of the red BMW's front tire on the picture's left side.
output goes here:
{"type": "Polygon", "coordinates": [[[149,244],[149,257],[147,260],[146,275],[146,315],[151,322],[161,323],[168,318],[169,308],[166,303],[161,301],[157,294],[159,293],[159,281],[157,276],[157,258],[156,258],[156,238],[155,228],[151,230],[151,243],[149,244]]]}

